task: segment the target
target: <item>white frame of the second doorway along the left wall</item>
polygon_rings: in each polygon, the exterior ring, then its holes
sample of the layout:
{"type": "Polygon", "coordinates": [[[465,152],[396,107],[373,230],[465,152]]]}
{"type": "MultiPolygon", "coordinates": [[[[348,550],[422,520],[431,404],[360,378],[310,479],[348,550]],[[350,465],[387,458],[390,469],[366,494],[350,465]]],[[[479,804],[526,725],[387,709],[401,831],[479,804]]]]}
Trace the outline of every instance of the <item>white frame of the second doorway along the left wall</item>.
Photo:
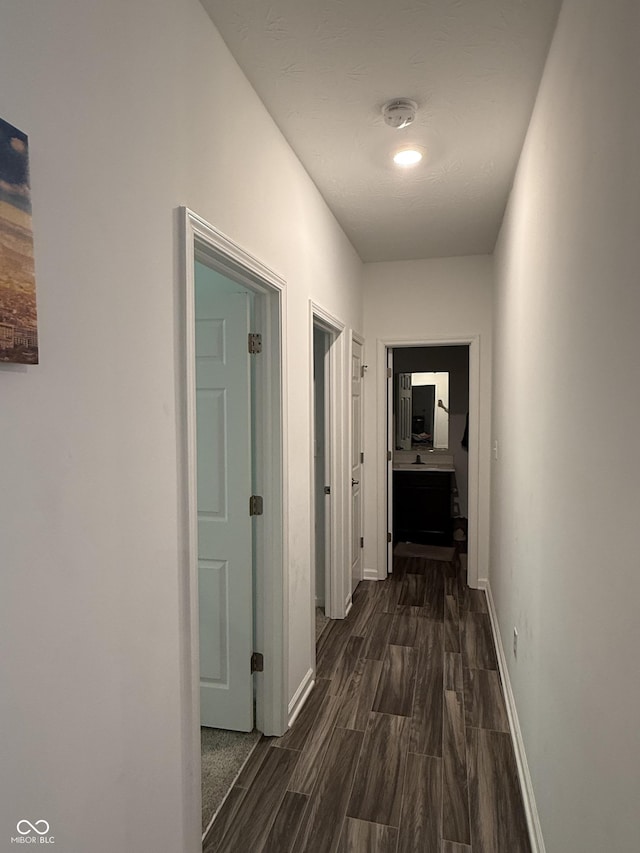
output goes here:
{"type": "MultiPolygon", "coordinates": [[[[345,430],[345,325],[337,317],[334,317],[326,309],[322,308],[312,299],[309,300],[309,341],[310,341],[310,419],[312,430],[314,430],[314,401],[313,401],[313,327],[317,326],[331,337],[328,360],[329,371],[329,470],[331,471],[331,501],[329,508],[329,526],[331,529],[330,541],[327,543],[328,566],[325,574],[325,610],[330,619],[344,619],[345,617],[345,571],[347,560],[345,558],[345,526],[344,519],[345,502],[347,500],[345,474],[345,453],[347,452],[346,430],[345,430]]],[[[315,435],[312,433],[312,442],[315,435]]],[[[313,443],[311,445],[313,447],[313,443]]],[[[313,453],[310,454],[311,465],[311,565],[315,566],[315,471],[313,464],[313,453]]],[[[316,580],[315,571],[311,573],[311,648],[315,649],[315,601],[316,580]]]]}

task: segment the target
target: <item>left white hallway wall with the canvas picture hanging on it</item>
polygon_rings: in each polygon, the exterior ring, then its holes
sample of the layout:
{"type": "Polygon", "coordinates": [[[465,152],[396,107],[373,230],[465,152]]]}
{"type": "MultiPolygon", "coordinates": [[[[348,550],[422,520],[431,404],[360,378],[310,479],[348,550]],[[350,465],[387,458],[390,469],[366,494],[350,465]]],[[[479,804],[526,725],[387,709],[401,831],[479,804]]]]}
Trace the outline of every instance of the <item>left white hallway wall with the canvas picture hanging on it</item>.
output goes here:
{"type": "Polygon", "coordinates": [[[175,210],[288,282],[290,695],[312,659],[308,300],[361,330],[362,267],[197,0],[4,3],[0,79],[30,135],[41,344],[0,369],[0,848],[24,817],[64,853],[175,853],[175,210]]]}

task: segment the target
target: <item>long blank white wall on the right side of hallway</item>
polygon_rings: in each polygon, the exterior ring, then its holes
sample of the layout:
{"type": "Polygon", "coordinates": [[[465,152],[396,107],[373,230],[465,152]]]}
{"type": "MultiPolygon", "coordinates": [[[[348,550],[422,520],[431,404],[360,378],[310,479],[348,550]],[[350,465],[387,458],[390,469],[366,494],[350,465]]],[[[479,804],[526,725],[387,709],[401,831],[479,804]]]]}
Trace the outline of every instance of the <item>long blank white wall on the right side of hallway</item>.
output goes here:
{"type": "Polygon", "coordinates": [[[565,0],[497,250],[491,586],[548,853],[638,848],[639,32],[565,0]]]}

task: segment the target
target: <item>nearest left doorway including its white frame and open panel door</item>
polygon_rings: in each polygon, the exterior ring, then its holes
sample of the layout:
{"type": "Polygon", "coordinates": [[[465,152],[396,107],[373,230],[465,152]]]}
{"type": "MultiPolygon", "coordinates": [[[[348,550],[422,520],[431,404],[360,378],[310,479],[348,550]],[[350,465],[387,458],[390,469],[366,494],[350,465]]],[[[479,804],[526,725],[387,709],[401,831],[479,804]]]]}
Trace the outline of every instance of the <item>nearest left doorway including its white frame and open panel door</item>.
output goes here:
{"type": "Polygon", "coordinates": [[[181,225],[183,778],[196,850],[211,796],[226,793],[202,775],[220,762],[203,758],[201,735],[239,770],[256,732],[287,727],[284,282],[186,208],[181,225]]]}

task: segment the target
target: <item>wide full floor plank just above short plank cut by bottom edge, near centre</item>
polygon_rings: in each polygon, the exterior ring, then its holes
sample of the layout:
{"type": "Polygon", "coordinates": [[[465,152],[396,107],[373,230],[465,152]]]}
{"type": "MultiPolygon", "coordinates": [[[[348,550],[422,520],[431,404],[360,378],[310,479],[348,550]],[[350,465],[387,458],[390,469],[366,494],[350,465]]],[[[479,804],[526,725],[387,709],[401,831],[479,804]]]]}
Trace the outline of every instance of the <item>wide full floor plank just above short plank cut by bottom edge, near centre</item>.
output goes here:
{"type": "Polygon", "coordinates": [[[406,717],[371,714],[347,815],[398,826],[406,762],[406,717]]]}

